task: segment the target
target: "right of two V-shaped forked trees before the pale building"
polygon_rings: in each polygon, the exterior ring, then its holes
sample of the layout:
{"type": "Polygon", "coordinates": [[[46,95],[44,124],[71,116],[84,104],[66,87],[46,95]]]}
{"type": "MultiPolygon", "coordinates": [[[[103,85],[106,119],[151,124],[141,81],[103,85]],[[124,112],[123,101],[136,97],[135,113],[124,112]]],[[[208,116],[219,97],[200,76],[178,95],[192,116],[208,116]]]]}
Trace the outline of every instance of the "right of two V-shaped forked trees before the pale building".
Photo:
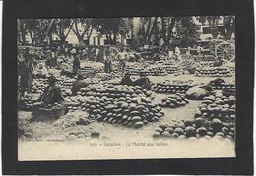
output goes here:
{"type": "Polygon", "coordinates": [[[77,36],[79,45],[81,46],[85,36],[87,36],[88,40],[91,37],[94,29],[94,18],[72,19],[71,29],[77,36]]]}

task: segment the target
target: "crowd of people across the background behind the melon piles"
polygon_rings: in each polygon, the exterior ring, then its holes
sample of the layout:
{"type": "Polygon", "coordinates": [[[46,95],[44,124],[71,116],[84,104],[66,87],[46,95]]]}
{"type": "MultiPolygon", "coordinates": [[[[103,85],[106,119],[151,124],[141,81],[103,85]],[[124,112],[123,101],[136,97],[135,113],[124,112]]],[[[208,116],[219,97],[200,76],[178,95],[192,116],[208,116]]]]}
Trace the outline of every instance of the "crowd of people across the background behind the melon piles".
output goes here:
{"type": "MultiPolygon", "coordinates": [[[[151,58],[155,60],[160,60],[160,57],[164,57],[165,60],[172,58],[174,60],[180,60],[180,50],[176,47],[171,52],[165,52],[162,54],[160,47],[152,48],[151,58]]],[[[133,51],[127,47],[112,47],[108,46],[94,46],[92,48],[68,48],[65,47],[61,49],[60,47],[47,48],[41,50],[33,50],[29,47],[25,48],[22,52],[18,52],[18,83],[19,95],[24,96],[25,92],[28,94],[32,93],[32,80],[33,80],[33,71],[36,67],[42,67],[47,72],[48,69],[61,68],[61,63],[70,62],[72,71],[69,71],[70,76],[78,78],[79,69],[81,69],[81,61],[94,61],[101,62],[104,64],[104,72],[110,74],[113,72],[113,62],[118,63],[118,70],[120,76],[123,78],[123,82],[126,84],[131,84],[129,82],[128,75],[125,74],[126,63],[128,61],[136,61],[143,64],[144,56],[142,57],[139,52],[133,51]],[[38,61],[42,61],[42,65],[38,66],[38,61]]],[[[47,75],[49,77],[49,75],[47,75]]],[[[133,84],[133,83],[132,83],[133,84]]],[[[147,85],[147,84],[146,84],[147,85]]]]}

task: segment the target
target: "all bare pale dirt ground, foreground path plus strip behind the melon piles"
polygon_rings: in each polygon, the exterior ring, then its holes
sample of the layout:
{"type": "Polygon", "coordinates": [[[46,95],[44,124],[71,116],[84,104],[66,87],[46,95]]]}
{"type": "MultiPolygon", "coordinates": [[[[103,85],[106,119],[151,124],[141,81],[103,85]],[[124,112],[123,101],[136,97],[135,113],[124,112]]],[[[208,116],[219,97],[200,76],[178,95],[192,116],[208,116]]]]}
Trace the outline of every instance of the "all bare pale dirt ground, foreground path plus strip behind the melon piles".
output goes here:
{"type": "MultiPolygon", "coordinates": [[[[193,80],[194,83],[208,83],[209,81],[215,79],[213,77],[196,77],[191,75],[167,75],[167,76],[151,76],[150,80],[153,83],[162,82],[165,80],[193,80]]],[[[234,83],[234,77],[223,78],[227,83],[234,83]]],[[[161,99],[166,96],[165,94],[156,94],[154,101],[159,103],[161,99]]],[[[152,133],[160,125],[173,125],[175,123],[180,123],[182,120],[189,120],[194,117],[195,110],[197,109],[200,101],[190,101],[184,107],[179,107],[175,109],[163,108],[165,115],[160,119],[159,122],[149,123],[148,125],[142,127],[139,130],[130,129],[123,127],[118,124],[108,124],[108,123],[98,123],[93,122],[87,126],[75,126],[67,129],[62,129],[61,127],[54,126],[53,122],[32,122],[30,123],[30,128],[32,129],[33,139],[66,139],[70,133],[83,132],[84,134],[90,134],[91,132],[99,132],[104,138],[134,138],[134,137],[145,137],[151,138],[152,133]]],[[[32,118],[31,112],[20,111],[18,112],[18,119],[30,119],[32,118]]]]}

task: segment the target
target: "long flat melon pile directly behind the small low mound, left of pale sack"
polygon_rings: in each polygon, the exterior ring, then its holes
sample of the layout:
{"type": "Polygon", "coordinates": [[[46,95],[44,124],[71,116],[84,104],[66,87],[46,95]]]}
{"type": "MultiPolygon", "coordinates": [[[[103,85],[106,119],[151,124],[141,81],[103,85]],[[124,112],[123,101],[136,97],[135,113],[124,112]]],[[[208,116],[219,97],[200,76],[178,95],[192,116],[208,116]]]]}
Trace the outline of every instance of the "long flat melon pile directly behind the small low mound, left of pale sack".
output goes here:
{"type": "Polygon", "coordinates": [[[188,83],[174,84],[169,82],[160,82],[158,84],[152,85],[152,90],[156,93],[183,93],[191,88],[188,83]]]}

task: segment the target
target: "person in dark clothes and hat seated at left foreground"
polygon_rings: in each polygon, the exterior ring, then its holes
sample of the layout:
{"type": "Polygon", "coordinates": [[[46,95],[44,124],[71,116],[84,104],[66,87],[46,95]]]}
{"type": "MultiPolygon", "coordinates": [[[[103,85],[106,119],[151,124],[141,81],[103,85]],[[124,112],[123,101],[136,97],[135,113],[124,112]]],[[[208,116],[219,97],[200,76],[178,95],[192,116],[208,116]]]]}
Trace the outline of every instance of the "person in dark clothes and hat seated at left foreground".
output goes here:
{"type": "Polygon", "coordinates": [[[57,79],[54,76],[48,78],[49,85],[44,89],[36,105],[44,106],[64,101],[61,89],[56,86],[57,79]]]}

